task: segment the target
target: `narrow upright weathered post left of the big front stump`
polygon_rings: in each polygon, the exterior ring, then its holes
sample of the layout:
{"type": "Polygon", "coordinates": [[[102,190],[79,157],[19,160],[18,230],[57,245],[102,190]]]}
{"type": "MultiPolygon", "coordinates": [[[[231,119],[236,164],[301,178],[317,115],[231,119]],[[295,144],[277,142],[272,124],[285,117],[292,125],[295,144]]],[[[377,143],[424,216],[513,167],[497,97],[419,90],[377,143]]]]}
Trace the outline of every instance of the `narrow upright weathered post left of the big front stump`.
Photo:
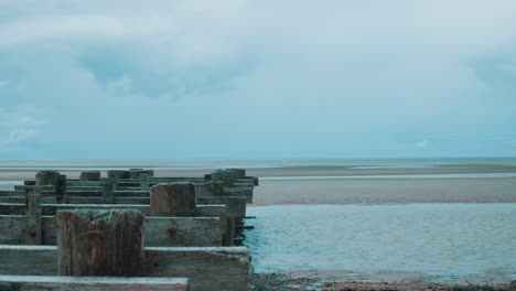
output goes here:
{"type": "Polygon", "coordinates": [[[28,188],[25,194],[25,245],[42,245],[41,191],[28,188]]]}

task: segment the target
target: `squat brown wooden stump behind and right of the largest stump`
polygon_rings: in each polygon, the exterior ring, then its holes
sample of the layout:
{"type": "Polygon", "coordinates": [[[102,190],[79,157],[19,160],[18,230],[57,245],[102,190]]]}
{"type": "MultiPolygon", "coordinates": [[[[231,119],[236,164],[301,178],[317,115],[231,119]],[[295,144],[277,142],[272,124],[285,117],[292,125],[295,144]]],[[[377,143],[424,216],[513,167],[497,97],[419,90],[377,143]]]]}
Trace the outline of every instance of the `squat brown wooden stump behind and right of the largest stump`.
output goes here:
{"type": "Polygon", "coordinates": [[[152,216],[194,216],[195,187],[190,182],[158,184],[150,190],[152,216]]]}

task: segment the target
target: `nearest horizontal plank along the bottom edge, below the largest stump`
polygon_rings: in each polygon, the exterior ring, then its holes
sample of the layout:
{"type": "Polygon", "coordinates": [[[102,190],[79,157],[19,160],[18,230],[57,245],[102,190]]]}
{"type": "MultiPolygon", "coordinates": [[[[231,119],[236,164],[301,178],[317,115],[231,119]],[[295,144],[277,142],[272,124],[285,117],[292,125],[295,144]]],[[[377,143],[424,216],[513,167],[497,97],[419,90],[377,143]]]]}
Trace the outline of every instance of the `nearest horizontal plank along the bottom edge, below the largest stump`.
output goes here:
{"type": "Polygon", "coordinates": [[[0,290],[40,291],[40,290],[88,290],[88,291],[152,291],[189,290],[186,278],[150,277],[67,277],[67,276],[0,276],[0,290]]]}

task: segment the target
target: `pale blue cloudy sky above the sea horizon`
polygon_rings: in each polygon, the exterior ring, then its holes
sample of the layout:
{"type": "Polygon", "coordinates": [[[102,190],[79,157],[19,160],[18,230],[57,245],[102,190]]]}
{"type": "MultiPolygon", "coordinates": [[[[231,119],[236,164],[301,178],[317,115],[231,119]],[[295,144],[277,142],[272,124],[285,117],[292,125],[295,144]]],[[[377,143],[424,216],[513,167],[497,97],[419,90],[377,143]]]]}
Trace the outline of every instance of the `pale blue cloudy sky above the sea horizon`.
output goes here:
{"type": "Polygon", "coordinates": [[[516,155],[514,0],[0,0],[0,159],[516,155]]]}

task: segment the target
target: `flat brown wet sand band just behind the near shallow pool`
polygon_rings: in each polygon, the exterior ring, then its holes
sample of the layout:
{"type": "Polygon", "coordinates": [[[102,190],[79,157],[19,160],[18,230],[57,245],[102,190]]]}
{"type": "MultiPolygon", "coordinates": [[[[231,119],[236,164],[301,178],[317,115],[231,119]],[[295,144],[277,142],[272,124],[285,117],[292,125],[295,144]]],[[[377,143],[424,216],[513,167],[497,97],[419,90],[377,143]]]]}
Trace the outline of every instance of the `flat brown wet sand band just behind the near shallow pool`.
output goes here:
{"type": "Polygon", "coordinates": [[[516,177],[262,180],[254,205],[516,203],[516,177]]]}

